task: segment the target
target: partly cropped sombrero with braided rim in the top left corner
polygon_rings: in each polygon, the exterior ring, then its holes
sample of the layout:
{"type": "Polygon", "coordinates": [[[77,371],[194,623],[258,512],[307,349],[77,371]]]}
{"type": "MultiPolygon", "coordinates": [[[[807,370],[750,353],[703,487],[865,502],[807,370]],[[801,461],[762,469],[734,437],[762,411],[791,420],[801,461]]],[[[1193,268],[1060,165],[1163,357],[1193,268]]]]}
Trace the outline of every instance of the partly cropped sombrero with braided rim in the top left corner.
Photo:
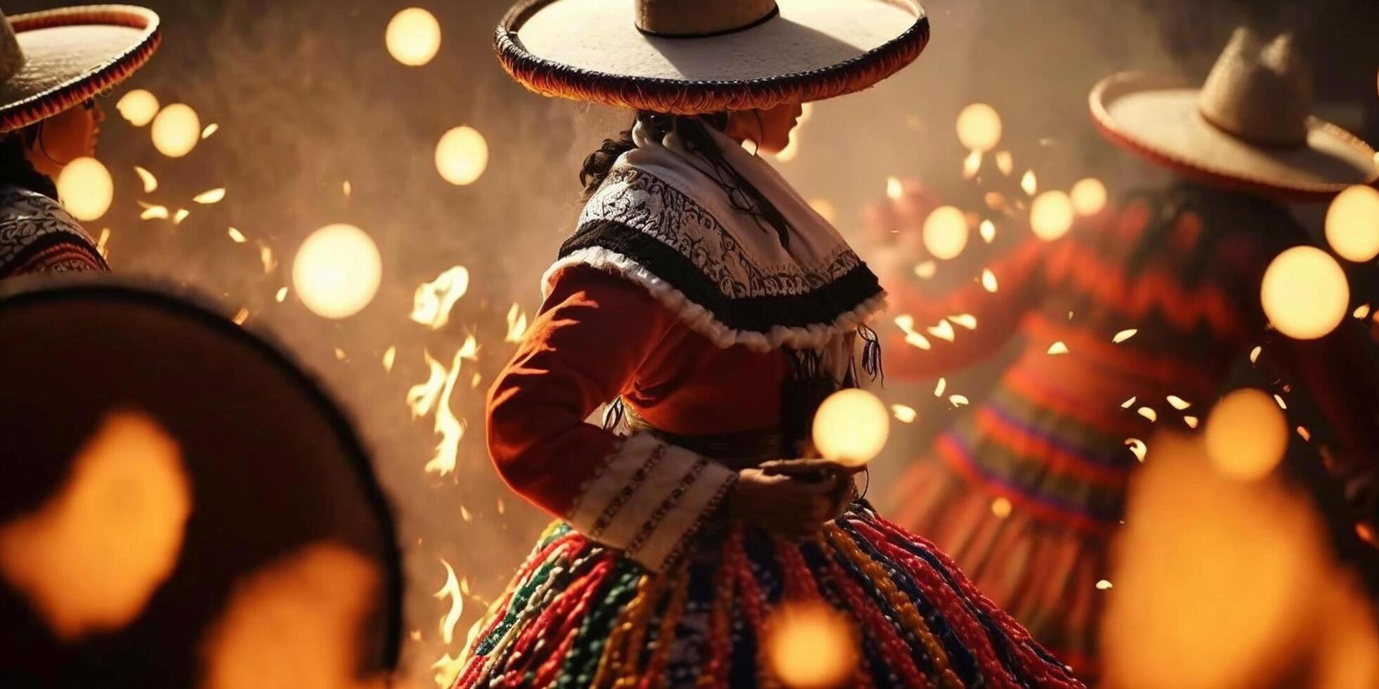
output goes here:
{"type": "Polygon", "coordinates": [[[132,6],[0,12],[0,132],[52,117],[124,81],[159,45],[159,15],[132,6]]]}

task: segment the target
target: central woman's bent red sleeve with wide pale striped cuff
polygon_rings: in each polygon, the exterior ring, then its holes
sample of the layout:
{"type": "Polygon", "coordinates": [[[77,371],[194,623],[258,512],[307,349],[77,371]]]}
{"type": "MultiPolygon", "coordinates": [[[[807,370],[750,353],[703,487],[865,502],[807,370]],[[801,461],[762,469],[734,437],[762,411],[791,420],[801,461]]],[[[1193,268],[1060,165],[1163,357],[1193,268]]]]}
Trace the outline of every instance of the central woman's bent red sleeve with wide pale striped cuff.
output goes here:
{"type": "Polygon", "coordinates": [[[590,267],[565,269],[488,402],[488,452],[503,481],[652,569],[674,559],[736,473],[585,419],[630,386],[676,324],[645,288],[590,267]]]}

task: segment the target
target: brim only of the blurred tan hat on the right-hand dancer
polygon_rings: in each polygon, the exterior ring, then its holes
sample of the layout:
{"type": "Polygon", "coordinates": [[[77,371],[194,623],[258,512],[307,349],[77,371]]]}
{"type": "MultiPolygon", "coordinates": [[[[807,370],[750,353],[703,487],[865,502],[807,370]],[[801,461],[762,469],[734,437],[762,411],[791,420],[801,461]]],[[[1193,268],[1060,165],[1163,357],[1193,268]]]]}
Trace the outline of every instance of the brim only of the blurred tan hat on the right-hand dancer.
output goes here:
{"type": "Polygon", "coordinates": [[[1375,152],[1316,117],[1300,146],[1265,146],[1207,121],[1200,90],[1172,77],[1120,73],[1092,90],[1092,120],[1110,141],[1201,182],[1291,200],[1321,201],[1379,179],[1375,152]]]}

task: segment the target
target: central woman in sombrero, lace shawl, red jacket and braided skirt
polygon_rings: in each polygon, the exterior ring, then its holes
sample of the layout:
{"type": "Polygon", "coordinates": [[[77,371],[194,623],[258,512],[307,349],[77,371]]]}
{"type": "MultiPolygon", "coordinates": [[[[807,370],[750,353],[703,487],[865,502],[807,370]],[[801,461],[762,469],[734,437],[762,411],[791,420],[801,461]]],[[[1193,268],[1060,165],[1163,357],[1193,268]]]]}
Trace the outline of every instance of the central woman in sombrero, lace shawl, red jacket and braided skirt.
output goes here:
{"type": "Polygon", "coordinates": [[[847,470],[789,459],[818,402],[874,371],[854,344],[884,294],[754,153],[786,145],[800,102],[914,59],[923,11],[688,8],[536,0],[499,28],[525,85],[638,114],[586,161],[575,234],[494,383],[492,459],[561,521],[474,628],[458,686],[772,685],[790,602],[851,630],[838,683],[1077,686],[943,554],[847,504],[847,470]],[[626,437],[583,422],[615,398],[626,437]]]}

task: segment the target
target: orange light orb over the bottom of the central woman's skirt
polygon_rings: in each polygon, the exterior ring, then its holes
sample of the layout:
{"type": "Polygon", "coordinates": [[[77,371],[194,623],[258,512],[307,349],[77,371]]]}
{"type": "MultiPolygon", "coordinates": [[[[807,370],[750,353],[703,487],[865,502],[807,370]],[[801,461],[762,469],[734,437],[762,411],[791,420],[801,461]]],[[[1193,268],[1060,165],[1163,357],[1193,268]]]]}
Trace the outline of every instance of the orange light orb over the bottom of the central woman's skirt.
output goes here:
{"type": "Polygon", "coordinates": [[[771,671],[793,689],[841,686],[858,663],[848,617],[821,601],[782,604],[768,620],[771,671]]]}

